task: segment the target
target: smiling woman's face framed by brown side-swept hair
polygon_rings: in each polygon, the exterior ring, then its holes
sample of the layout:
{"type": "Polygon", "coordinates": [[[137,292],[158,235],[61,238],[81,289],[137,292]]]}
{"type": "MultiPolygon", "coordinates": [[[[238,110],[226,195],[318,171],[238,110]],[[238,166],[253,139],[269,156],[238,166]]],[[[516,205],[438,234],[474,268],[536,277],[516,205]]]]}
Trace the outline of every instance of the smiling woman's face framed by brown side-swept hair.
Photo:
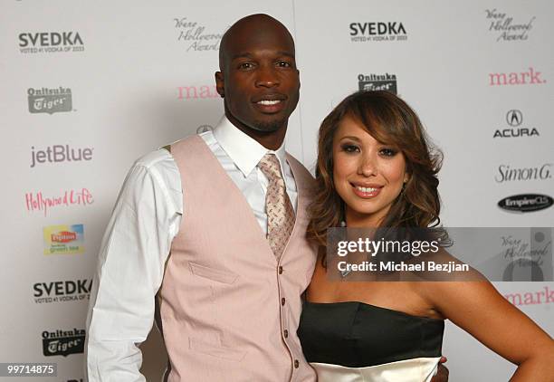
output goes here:
{"type": "Polygon", "coordinates": [[[347,116],[333,138],[333,158],[335,188],[346,204],[349,226],[377,226],[407,181],[404,155],[347,116]]]}

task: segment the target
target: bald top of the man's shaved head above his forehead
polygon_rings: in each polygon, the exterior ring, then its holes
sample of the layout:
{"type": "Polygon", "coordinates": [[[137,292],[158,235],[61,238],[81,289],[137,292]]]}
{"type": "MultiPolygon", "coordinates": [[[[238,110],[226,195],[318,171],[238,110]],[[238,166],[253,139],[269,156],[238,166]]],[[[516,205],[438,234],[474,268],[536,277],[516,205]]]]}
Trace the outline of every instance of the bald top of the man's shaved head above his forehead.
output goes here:
{"type": "Polygon", "coordinates": [[[294,53],[294,40],[289,30],[269,14],[250,14],[236,23],[224,33],[219,47],[219,70],[224,72],[225,65],[233,60],[236,45],[250,40],[257,43],[272,43],[275,38],[286,38],[291,43],[294,53]]]}

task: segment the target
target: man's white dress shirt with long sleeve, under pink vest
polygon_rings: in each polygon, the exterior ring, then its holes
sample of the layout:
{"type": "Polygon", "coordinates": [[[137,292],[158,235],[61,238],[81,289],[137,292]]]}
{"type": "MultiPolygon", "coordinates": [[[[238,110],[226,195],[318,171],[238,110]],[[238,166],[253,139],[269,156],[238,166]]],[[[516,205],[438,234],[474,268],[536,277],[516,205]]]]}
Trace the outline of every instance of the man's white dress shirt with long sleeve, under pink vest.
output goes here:
{"type": "MultiPolygon", "coordinates": [[[[225,117],[213,132],[201,137],[243,192],[264,233],[268,179],[257,165],[267,152],[279,159],[296,211],[297,188],[284,144],[276,151],[268,150],[225,117]]],[[[152,328],[154,296],[179,231],[183,203],[179,170],[166,149],[139,158],[131,167],[102,239],[92,284],[85,350],[89,381],[145,380],[139,374],[142,355],[138,345],[152,328]]]]}

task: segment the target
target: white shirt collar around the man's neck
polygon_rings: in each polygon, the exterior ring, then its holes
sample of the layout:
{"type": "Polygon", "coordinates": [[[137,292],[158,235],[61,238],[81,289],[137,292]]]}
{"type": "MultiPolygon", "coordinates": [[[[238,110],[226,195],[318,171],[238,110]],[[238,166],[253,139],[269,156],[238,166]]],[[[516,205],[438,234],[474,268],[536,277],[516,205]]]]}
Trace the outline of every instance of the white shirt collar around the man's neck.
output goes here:
{"type": "Polygon", "coordinates": [[[225,116],[215,126],[214,137],[229,158],[233,160],[234,165],[241,170],[244,177],[248,177],[266,153],[275,154],[281,168],[284,168],[286,158],[284,141],[281,147],[275,151],[264,148],[254,138],[236,128],[225,116]]]}

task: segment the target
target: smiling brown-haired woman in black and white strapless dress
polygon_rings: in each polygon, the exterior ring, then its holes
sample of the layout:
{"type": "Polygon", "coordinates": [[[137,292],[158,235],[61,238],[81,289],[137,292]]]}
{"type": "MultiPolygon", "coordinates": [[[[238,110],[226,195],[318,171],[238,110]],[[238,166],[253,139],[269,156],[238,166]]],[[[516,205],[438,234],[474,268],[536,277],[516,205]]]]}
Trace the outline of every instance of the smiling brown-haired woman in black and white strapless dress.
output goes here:
{"type": "MultiPolygon", "coordinates": [[[[343,222],[436,226],[440,158],[406,102],[387,91],[350,95],[320,127],[309,235],[323,248],[327,229],[343,222]]],[[[446,319],[518,365],[513,381],[552,380],[552,339],[490,282],[416,282],[409,275],[406,282],[345,282],[348,272],[333,281],[328,272],[337,269],[320,257],[298,330],[320,382],[429,381],[446,319]]]]}

